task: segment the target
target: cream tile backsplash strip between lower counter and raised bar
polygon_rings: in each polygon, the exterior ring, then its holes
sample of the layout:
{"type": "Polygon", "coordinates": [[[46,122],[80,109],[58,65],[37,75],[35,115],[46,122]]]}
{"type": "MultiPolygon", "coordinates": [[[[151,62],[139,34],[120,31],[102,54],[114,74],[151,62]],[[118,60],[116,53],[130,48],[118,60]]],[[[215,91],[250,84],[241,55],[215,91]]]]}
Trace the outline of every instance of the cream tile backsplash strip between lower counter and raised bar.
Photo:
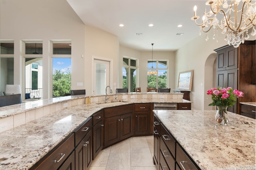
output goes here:
{"type": "MultiPolygon", "coordinates": [[[[105,95],[102,96],[66,96],[63,100],[59,101],[48,101],[46,104],[39,104],[36,107],[31,104],[31,107],[26,107],[22,111],[19,110],[18,113],[10,113],[10,115],[5,115],[5,117],[0,118],[0,132],[7,131],[19,125],[23,125],[30,121],[34,121],[40,117],[66,109],[72,106],[78,106],[81,104],[90,104],[97,102],[104,102],[105,95]],[[87,98],[87,100],[86,100],[87,98]],[[89,99],[89,100],[88,100],[89,99]]],[[[172,93],[172,94],[154,94],[154,93],[129,93],[129,94],[111,94],[108,95],[108,101],[123,100],[128,101],[132,99],[182,99],[183,93],[172,93]]],[[[61,97],[62,98],[62,97],[61,97]]],[[[47,99],[46,99],[47,100],[47,99]]],[[[33,101],[34,104],[37,101],[33,101]]],[[[41,102],[38,100],[38,102],[41,102]]],[[[22,104],[17,104],[22,105],[22,104]]],[[[8,109],[8,106],[5,106],[8,109]]],[[[13,107],[13,106],[12,106],[13,107]]]]}

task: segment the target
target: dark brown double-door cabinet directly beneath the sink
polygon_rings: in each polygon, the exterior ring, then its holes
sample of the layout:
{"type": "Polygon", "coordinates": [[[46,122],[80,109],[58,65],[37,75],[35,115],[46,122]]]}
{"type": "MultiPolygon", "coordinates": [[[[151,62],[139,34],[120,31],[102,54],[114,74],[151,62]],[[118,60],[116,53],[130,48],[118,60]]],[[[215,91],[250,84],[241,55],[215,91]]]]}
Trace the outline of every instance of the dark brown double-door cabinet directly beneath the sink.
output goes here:
{"type": "Polygon", "coordinates": [[[133,135],[133,106],[104,109],[104,147],[133,135]]]}

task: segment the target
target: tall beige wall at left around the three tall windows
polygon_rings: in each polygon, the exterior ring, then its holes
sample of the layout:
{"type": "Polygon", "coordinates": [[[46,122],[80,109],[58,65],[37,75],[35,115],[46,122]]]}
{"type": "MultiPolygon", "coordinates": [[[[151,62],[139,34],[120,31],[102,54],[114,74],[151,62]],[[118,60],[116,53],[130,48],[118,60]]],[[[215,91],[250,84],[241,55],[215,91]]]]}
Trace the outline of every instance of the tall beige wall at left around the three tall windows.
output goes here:
{"type": "Polygon", "coordinates": [[[43,98],[52,96],[50,40],[72,40],[72,88],[84,82],[84,23],[66,0],[0,0],[0,39],[14,40],[14,84],[24,88],[21,40],[43,41],[43,98]]]}

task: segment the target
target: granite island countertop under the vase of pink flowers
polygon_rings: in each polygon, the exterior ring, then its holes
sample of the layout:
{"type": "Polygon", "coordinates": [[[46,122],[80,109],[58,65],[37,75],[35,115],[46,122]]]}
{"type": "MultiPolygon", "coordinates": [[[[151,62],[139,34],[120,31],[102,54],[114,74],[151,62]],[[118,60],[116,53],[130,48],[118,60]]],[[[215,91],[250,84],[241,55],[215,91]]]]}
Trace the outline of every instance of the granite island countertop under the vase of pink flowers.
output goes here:
{"type": "Polygon", "coordinates": [[[256,169],[255,119],[228,112],[223,126],[215,122],[216,111],[154,113],[202,170],[256,169]]]}

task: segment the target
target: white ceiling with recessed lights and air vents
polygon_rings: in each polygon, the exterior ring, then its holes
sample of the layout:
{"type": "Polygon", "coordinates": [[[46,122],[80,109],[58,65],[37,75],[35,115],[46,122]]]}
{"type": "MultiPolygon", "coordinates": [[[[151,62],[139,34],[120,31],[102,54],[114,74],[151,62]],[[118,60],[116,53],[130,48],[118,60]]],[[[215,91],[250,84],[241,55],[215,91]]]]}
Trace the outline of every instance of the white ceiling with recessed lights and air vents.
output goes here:
{"type": "Polygon", "coordinates": [[[176,51],[199,36],[199,26],[191,20],[194,5],[198,16],[206,7],[209,10],[204,0],[67,1],[85,25],[112,33],[118,36],[120,45],[140,51],[151,50],[151,43],[154,51],[176,51]],[[149,27],[150,23],[154,26],[149,27]],[[179,24],[183,26],[177,27],[179,24]]]}

